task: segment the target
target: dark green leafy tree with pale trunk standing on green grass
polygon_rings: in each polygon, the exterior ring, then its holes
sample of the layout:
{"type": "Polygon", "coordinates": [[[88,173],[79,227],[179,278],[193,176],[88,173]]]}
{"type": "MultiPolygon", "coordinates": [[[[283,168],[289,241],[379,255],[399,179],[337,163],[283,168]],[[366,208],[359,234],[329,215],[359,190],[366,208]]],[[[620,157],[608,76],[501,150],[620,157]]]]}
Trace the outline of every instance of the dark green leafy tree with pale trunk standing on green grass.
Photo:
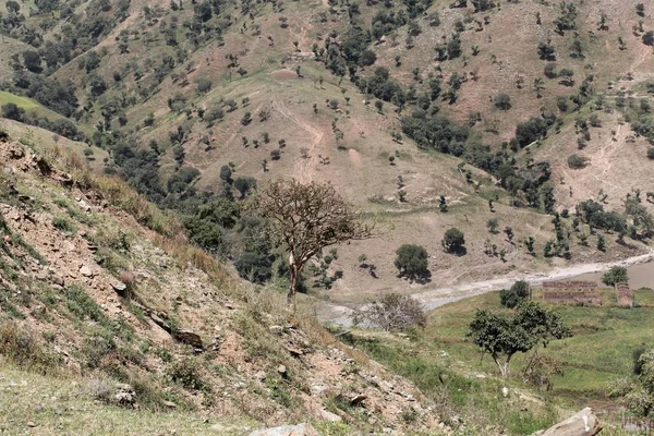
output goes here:
{"type": "Polygon", "coordinates": [[[484,352],[491,354],[506,377],[511,358],[526,353],[534,347],[553,339],[570,337],[571,332],[559,316],[534,301],[524,301],[510,314],[495,314],[477,310],[467,337],[484,352]]]}

